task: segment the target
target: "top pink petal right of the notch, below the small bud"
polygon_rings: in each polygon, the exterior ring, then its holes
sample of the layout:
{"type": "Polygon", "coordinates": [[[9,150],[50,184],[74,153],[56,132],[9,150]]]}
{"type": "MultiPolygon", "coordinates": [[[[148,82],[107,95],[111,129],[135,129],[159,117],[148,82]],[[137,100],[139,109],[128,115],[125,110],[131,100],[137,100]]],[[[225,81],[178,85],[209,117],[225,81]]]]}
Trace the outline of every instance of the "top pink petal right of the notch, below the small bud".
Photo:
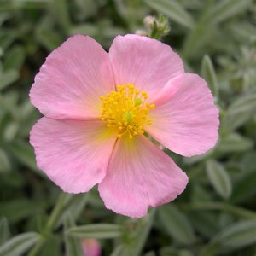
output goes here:
{"type": "Polygon", "coordinates": [[[183,73],[183,62],[169,45],[137,35],[118,36],[109,50],[116,84],[133,84],[154,96],[183,73]]]}

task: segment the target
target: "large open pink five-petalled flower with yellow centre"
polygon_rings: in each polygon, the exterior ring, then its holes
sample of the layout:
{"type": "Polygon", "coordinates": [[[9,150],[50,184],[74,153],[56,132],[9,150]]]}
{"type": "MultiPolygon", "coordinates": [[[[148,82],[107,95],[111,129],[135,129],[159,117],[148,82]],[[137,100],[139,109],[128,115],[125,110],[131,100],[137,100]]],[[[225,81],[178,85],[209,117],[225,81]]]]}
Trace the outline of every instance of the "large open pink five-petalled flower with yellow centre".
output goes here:
{"type": "Polygon", "coordinates": [[[44,118],[31,131],[38,167],[69,193],[97,183],[108,209],[140,218],[174,200],[186,174],[152,143],[205,153],[218,140],[207,83],[157,40],[118,36],[107,54],[93,38],[68,38],[30,92],[44,118]]]}

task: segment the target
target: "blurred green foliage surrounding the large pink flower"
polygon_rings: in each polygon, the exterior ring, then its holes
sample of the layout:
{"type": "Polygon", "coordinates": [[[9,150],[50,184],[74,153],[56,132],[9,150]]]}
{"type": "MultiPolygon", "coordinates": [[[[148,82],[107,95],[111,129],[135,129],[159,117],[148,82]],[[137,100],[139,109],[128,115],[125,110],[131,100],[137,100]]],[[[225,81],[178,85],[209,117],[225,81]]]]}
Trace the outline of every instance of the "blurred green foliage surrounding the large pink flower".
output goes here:
{"type": "Polygon", "coordinates": [[[255,256],[255,25],[253,0],[0,0],[0,255],[255,256]],[[152,32],[147,15],[165,15],[162,41],[207,80],[221,125],[205,155],[166,151],[189,185],[136,220],[108,211],[96,189],[61,194],[38,170],[28,136],[40,113],[28,93],[69,36],[108,51],[118,34],[152,32]]]}

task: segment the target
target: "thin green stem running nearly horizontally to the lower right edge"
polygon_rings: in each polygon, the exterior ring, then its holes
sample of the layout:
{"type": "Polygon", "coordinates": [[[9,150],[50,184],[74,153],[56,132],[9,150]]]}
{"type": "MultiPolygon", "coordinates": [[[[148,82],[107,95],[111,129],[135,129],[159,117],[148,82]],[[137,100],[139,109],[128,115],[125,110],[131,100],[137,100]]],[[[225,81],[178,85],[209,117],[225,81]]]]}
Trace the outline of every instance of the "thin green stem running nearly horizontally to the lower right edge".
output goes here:
{"type": "Polygon", "coordinates": [[[214,202],[214,203],[190,203],[190,204],[182,204],[180,205],[184,210],[221,210],[223,212],[229,212],[234,215],[237,215],[242,218],[255,218],[256,213],[252,211],[248,211],[241,207],[234,207],[227,203],[214,202]]]}

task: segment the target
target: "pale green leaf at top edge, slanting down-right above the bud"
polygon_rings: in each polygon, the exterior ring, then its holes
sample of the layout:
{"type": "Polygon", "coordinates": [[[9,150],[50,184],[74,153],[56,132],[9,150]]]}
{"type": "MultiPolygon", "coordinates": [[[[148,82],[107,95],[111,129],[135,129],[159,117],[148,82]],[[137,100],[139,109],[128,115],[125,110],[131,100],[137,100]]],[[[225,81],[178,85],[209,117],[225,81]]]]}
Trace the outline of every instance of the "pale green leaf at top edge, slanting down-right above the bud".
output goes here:
{"type": "Polygon", "coordinates": [[[192,28],[195,22],[192,16],[183,9],[183,6],[177,1],[172,0],[144,0],[151,8],[157,10],[160,14],[166,15],[171,20],[176,21],[178,24],[192,28]]]}

